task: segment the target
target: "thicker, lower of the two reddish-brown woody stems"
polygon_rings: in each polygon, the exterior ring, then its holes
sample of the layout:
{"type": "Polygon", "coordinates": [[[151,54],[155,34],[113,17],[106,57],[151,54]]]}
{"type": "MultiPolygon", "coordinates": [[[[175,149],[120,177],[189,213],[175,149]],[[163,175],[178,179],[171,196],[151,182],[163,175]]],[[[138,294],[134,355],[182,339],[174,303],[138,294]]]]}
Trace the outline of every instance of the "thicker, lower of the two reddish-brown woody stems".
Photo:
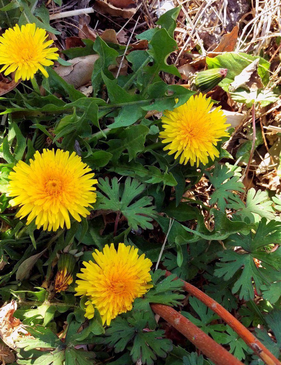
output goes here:
{"type": "Polygon", "coordinates": [[[162,304],[151,304],[151,308],[153,312],[161,316],[186,338],[188,338],[190,342],[192,342],[216,365],[242,365],[241,361],[173,308],[163,306],[162,304]]]}

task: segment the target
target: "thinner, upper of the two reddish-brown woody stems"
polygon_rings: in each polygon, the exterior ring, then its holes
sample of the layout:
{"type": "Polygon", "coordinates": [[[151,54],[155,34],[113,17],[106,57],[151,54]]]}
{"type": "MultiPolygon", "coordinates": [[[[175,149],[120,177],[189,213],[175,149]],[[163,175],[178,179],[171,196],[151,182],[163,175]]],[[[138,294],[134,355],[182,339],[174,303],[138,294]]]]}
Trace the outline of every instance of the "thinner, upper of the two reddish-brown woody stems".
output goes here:
{"type": "MultiPolygon", "coordinates": [[[[171,275],[166,271],[165,276],[171,275]]],[[[267,365],[281,365],[280,361],[233,315],[200,289],[182,280],[183,288],[220,316],[267,365]]]]}

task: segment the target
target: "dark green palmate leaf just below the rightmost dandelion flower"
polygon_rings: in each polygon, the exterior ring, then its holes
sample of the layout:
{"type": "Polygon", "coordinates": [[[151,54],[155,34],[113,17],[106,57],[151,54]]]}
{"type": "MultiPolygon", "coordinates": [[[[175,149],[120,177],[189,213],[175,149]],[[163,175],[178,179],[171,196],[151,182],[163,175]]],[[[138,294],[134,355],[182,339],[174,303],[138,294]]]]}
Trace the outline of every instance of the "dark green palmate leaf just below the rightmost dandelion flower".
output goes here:
{"type": "Polygon", "coordinates": [[[220,165],[218,162],[215,163],[215,168],[213,170],[204,172],[210,183],[215,188],[214,193],[210,196],[210,205],[217,203],[218,208],[224,211],[226,208],[226,203],[231,198],[235,198],[235,193],[243,192],[243,183],[239,182],[239,177],[234,176],[234,172],[229,170],[226,165],[220,165]],[[212,173],[212,174],[211,174],[212,173]]]}

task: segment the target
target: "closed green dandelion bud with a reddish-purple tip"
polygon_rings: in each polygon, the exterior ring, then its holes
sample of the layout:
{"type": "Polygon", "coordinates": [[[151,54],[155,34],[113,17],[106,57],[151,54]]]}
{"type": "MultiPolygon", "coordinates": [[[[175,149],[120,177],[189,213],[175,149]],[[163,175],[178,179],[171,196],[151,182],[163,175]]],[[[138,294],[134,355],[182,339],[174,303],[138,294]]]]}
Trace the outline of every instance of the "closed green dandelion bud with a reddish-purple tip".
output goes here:
{"type": "Polygon", "coordinates": [[[227,74],[227,69],[210,69],[198,72],[195,77],[196,89],[201,92],[208,92],[222,81],[227,74]]]}

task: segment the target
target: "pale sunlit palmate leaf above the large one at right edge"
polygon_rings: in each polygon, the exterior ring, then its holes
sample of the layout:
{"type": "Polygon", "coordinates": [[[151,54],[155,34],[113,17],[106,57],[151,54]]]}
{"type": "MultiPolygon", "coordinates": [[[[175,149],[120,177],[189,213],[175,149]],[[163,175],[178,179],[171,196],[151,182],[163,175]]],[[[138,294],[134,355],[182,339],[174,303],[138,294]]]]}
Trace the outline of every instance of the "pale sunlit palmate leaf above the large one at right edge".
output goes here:
{"type": "Polygon", "coordinates": [[[242,220],[249,218],[251,223],[257,223],[260,217],[270,220],[275,217],[267,193],[261,190],[256,192],[254,188],[248,190],[245,204],[238,196],[234,196],[230,198],[227,208],[236,211],[242,220]]]}

